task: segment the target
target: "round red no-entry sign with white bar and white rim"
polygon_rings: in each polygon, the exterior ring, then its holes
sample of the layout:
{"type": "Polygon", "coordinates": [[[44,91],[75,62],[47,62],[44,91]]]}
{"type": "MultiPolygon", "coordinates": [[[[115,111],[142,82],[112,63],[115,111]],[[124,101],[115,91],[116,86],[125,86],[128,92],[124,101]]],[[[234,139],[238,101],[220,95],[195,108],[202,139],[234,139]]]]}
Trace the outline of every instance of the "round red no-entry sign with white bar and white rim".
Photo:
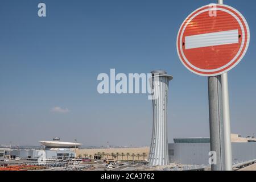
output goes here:
{"type": "Polygon", "coordinates": [[[181,24],[177,53],[189,71],[216,76],[241,61],[249,42],[249,26],[239,11],[210,4],[193,11],[181,24]]]}

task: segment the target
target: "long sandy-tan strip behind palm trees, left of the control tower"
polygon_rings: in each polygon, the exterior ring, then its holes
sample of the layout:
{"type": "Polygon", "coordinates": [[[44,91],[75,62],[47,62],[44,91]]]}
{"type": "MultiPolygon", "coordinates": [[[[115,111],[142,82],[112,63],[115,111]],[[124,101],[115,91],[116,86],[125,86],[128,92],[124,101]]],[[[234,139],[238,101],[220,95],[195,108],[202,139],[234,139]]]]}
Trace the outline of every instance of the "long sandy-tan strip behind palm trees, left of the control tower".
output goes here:
{"type": "MultiPolygon", "coordinates": [[[[124,153],[125,155],[123,156],[123,160],[127,160],[127,153],[130,154],[130,156],[128,156],[128,160],[133,160],[133,157],[131,156],[132,154],[135,154],[134,156],[134,160],[143,160],[143,156],[140,156],[138,159],[137,154],[142,155],[143,153],[146,153],[146,156],[144,157],[144,159],[148,159],[148,153],[149,153],[150,148],[149,147],[134,147],[134,148],[93,148],[93,149],[77,149],[76,150],[76,156],[82,155],[82,157],[84,157],[84,154],[86,155],[92,155],[94,156],[94,154],[97,154],[98,152],[100,152],[102,154],[102,152],[105,153],[104,155],[104,159],[107,158],[107,154],[109,154],[109,159],[112,159],[112,153],[117,154],[117,152],[119,153],[118,156],[118,160],[122,159],[121,154],[124,153]]],[[[117,158],[113,158],[115,160],[117,160],[117,158]]]]}

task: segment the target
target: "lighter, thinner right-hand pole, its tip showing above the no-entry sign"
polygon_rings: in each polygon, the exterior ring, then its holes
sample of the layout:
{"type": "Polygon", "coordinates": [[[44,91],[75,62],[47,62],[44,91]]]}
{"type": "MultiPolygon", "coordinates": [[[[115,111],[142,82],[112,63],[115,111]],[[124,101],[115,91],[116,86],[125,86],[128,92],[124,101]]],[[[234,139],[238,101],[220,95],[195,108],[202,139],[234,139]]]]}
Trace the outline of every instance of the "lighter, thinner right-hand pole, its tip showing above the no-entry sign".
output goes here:
{"type": "MultiPolygon", "coordinates": [[[[218,0],[223,5],[223,0],[218,0]]],[[[232,171],[232,144],[230,133],[230,115],[229,115],[229,89],[228,89],[228,73],[221,75],[222,84],[222,107],[223,107],[223,127],[224,127],[224,145],[225,145],[225,170],[232,171]]]]}

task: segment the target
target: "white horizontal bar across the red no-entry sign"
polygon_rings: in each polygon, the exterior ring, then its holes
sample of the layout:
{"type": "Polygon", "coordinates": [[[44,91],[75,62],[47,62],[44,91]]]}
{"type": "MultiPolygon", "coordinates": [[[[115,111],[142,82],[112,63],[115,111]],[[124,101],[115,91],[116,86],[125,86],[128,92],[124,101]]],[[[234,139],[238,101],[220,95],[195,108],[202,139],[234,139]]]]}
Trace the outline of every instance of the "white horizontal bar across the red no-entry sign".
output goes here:
{"type": "Polygon", "coordinates": [[[213,32],[185,37],[185,49],[238,43],[238,30],[213,32]]]}

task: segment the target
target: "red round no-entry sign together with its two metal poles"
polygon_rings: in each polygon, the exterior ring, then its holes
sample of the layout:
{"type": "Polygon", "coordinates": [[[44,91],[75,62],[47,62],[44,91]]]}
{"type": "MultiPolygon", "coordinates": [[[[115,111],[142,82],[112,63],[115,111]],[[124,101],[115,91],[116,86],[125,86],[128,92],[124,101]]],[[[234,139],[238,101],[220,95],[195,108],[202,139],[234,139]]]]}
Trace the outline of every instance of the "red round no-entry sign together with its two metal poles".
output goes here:
{"type": "Polygon", "coordinates": [[[228,171],[232,170],[232,144],[227,72],[245,55],[250,43],[250,29],[238,10],[223,5],[223,0],[217,2],[218,8],[202,6],[185,18],[177,34],[177,53],[189,71],[208,76],[209,163],[212,170],[228,171]],[[216,15],[218,17],[214,18],[216,15]],[[231,44],[236,44],[239,49],[234,49],[231,44]]]}

